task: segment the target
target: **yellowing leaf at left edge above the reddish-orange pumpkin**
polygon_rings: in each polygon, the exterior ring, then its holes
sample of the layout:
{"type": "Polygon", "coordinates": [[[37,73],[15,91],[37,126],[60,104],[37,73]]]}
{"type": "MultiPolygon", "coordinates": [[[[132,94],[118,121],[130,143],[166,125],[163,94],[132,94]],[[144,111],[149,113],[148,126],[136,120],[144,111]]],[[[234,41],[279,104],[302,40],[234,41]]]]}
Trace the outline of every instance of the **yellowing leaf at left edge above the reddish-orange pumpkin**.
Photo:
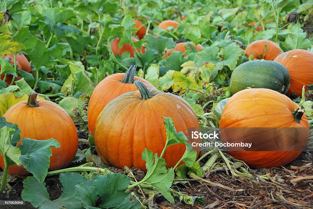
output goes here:
{"type": "Polygon", "coordinates": [[[19,52],[22,50],[25,50],[25,46],[23,44],[17,43],[15,41],[10,41],[7,40],[8,38],[10,38],[11,35],[4,33],[4,34],[0,34],[0,55],[4,56],[4,55],[10,55],[10,54],[14,54],[15,52],[19,52]]]}

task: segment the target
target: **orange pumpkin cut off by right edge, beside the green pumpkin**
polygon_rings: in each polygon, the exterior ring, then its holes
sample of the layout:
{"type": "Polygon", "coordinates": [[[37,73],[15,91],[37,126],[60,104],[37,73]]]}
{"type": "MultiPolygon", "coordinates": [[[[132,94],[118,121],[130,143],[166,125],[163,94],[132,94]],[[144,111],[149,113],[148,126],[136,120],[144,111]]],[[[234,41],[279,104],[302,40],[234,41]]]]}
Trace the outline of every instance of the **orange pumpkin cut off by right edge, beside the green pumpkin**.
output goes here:
{"type": "Polygon", "coordinates": [[[303,85],[313,84],[313,53],[303,49],[286,51],[275,58],[276,62],[283,64],[290,73],[290,87],[287,95],[296,92],[302,94],[303,85]]]}

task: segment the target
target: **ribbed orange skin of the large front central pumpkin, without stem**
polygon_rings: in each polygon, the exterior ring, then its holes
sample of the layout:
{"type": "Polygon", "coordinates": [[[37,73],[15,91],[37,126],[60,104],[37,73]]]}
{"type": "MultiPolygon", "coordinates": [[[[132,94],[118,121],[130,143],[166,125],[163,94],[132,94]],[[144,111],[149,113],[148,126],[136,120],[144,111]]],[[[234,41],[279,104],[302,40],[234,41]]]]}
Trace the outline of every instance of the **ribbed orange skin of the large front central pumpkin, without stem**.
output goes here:
{"type": "MultiPolygon", "coordinates": [[[[100,113],[95,127],[95,146],[105,163],[146,172],[142,152],[147,148],[160,156],[166,143],[162,116],[172,117],[177,132],[182,131],[186,136],[188,127],[199,128],[195,112],[181,97],[148,90],[155,96],[142,100],[139,91],[128,92],[112,100],[100,113]]],[[[185,150],[184,144],[169,146],[163,155],[167,168],[174,167],[185,150]]]]}

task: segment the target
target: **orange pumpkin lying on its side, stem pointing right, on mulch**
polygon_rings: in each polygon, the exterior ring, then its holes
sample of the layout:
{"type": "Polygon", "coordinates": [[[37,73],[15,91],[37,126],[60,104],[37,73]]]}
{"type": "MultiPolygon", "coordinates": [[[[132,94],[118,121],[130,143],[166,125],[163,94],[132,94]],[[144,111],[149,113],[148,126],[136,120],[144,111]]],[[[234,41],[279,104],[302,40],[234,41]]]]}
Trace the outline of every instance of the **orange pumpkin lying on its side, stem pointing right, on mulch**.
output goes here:
{"type": "Polygon", "coordinates": [[[269,89],[245,89],[226,103],[219,128],[223,143],[254,143],[252,151],[226,148],[253,168],[284,166],[305,148],[309,124],[287,96],[269,89]],[[295,141],[296,140],[296,141],[295,141]]]}

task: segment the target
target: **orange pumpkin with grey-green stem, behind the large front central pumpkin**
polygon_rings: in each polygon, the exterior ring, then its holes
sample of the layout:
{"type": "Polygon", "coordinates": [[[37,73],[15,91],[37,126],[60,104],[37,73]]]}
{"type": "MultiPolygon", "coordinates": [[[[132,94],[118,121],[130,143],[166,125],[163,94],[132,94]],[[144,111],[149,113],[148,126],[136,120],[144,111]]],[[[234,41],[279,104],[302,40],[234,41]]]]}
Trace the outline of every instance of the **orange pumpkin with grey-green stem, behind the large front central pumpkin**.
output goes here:
{"type": "Polygon", "coordinates": [[[134,85],[135,80],[140,80],[148,88],[155,89],[155,87],[148,81],[135,76],[136,68],[136,65],[131,65],[126,73],[116,73],[110,75],[103,79],[95,87],[89,100],[87,112],[88,129],[92,134],[94,134],[95,123],[98,115],[105,105],[126,92],[138,90],[134,85]]]}

